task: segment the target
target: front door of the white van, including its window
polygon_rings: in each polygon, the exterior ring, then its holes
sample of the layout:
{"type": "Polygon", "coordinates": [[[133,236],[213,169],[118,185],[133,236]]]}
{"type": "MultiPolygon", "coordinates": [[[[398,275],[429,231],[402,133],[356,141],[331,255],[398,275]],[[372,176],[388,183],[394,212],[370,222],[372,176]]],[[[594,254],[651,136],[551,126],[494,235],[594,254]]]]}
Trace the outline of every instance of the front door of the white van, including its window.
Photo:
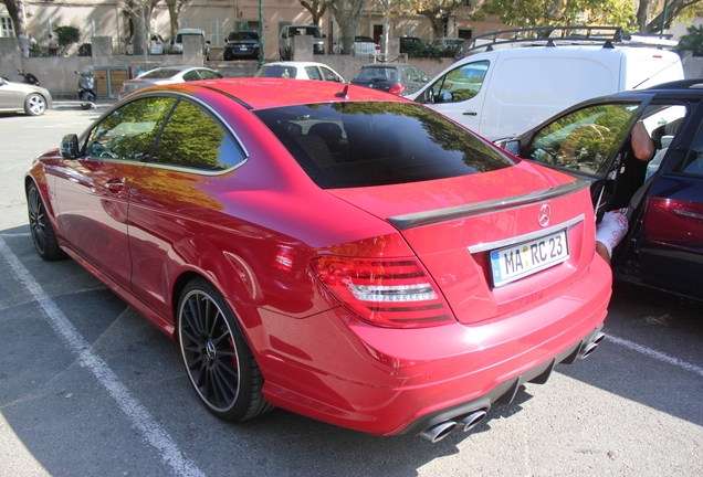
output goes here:
{"type": "Polygon", "coordinates": [[[486,94],[482,86],[489,81],[490,66],[487,60],[461,64],[436,78],[416,100],[469,129],[480,131],[481,112],[486,94]]]}

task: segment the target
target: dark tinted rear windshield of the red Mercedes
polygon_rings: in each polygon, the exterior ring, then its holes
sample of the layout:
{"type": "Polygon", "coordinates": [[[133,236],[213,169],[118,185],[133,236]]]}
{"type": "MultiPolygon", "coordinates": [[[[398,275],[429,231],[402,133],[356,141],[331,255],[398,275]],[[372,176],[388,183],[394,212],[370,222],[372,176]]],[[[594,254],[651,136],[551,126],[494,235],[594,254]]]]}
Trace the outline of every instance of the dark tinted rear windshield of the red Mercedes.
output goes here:
{"type": "Polygon", "coordinates": [[[254,114],[323,189],[389,186],[502,169],[513,161],[413,103],[333,103],[254,114]]]}

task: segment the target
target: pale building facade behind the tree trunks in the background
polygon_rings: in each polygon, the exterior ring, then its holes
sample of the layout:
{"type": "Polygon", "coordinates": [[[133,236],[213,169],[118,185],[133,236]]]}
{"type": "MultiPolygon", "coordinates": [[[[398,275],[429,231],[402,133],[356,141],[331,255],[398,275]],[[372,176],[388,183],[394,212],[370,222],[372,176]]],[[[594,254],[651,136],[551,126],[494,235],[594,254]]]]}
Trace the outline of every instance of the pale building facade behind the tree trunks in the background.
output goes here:
{"type": "MultiPolygon", "coordinates": [[[[228,33],[233,30],[259,30],[260,0],[190,0],[181,10],[179,28],[197,28],[206,31],[211,45],[211,59],[222,56],[222,46],[228,33]]],[[[261,0],[263,7],[264,57],[279,60],[279,31],[284,24],[307,24],[312,15],[298,0],[261,0]]],[[[437,34],[424,17],[396,17],[390,21],[390,36],[417,36],[424,42],[434,38],[473,38],[504,28],[499,21],[472,22],[469,14],[472,2],[453,12],[447,19],[445,32],[437,34]]],[[[81,30],[81,42],[90,43],[93,36],[111,36],[116,54],[127,53],[134,34],[134,22],[122,0],[24,0],[18,2],[23,11],[28,34],[43,49],[49,34],[59,25],[75,25],[81,30]]],[[[146,23],[153,32],[170,42],[170,18],[164,2],[157,3],[146,23]]],[[[358,35],[378,41],[382,33],[384,15],[377,3],[369,1],[359,24],[358,35]]],[[[328,53],[339,51],[339,25],[332,12],[325,13],[322,31],[326,35],[328,53]]],[[[0,36],[14,36],[14,26],[3,4],[0,4],[0,36]]]]}

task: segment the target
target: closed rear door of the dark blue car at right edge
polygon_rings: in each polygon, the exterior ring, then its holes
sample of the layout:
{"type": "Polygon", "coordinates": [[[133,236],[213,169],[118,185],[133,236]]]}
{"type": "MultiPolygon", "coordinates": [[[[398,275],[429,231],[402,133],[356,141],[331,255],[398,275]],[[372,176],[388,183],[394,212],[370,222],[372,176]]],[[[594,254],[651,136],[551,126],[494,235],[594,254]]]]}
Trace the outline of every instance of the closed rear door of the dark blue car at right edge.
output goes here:
{"type": "Polygon", "coordinates": [[[642,283],[703,299],[703,110],[676,132],[647,198],[642,283]]]}

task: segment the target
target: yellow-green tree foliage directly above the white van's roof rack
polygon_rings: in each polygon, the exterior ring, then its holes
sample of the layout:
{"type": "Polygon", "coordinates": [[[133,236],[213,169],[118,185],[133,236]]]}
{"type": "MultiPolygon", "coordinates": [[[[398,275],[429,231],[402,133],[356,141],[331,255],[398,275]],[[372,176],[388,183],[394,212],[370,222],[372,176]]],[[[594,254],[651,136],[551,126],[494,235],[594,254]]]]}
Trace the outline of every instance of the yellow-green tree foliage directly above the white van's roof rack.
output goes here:
{"type": "Polygon", "coordinates": [[[497,17],[513,26],[568,26],[602,24],[628,26],[634,17],[630,0],[485,0],[476,13],[476,21],[486,15],[497,17]]]}

